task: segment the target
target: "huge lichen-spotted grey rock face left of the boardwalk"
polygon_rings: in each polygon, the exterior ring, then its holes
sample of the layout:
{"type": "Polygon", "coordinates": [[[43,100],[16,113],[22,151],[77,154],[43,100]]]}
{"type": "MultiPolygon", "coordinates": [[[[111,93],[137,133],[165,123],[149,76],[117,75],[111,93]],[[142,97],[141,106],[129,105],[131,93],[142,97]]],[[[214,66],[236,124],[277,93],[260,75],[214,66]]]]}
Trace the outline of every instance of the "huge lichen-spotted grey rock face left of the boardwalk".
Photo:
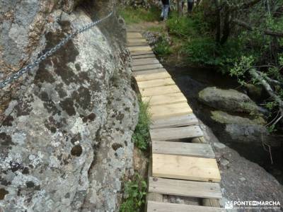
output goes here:
{"type": "MultiPolygon", "coordinates": [[[[0,4],[6,76],[113,2],[0,4]]],[[[0,211],[117,211],[137,124],[130,76],[125,27],[114,15],[1,90],[0,211]]]]}

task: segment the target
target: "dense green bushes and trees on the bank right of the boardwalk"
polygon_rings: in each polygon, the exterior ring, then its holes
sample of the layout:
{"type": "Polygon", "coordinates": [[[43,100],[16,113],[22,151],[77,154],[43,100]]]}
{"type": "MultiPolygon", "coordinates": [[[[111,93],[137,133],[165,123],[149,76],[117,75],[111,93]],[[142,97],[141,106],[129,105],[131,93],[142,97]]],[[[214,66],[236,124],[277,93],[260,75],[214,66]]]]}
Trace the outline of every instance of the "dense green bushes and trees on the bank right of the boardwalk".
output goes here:
{"type": "MultiPolygon", "coordinates": [[[[154,8],[147,16],[156,20],[154,8]]],[[[165,27],[150,29],[160,33],[154,51],[168,61],[211,66],[243,86],[262,86],[270,95],[262,102],[270,111],[267,127],[275,129],[283,117],[282,8],[282,1],[206,0],[190,16],[171,11],[165,27]]]]}

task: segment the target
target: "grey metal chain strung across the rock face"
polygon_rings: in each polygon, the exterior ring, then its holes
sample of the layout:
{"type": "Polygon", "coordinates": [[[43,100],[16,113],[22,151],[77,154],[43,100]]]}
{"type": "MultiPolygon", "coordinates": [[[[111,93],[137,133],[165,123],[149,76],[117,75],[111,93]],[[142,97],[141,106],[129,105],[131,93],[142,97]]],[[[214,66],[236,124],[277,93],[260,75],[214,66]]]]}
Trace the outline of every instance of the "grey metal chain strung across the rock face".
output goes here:
{"type": "Polygon", "coordinates": [[[42,54],[42,56],[35,59],[35,61],[33,61],[33,63],[28,64],[27,66],[23,67],[23,69],[18,70],[16,73],[13,73],[13,74],[11,74],[11,76],[8,76],[8,78],[4,79],[3,81],[0,81],[0,88],[4,88],[8,84],[10,84],[13,81],[15,81],[16,79],[20,78],[21,76],[23,76],[24,73],[27,73],[28,71],[33,69],[35,66],[40,64],[41,61],[44,61],[45,59],[47,59],[47,57],[52,56],[55,52],[57,52],[57,50],[59,50],[62,46],[67,44],[67,42],[69,40],[71,40],[73,37],[75,37],[78,34],[85,32],[86,30],[89,30],[94,25],[97,25],[98,23],[102,22],[103,20],[110,18],[110,16],[112,16],[112,14],[113,14],[113,11],[111,11],[107,16],[105,16],[105,17],[103,17],[99,20],[96,20],[93,23],[85,25],[83,28],[76,30],[74,33],[67,35],[67,37],[65,37],[63,40],[61,40],[56,46],[54,46],[49,51],[45,52],[45,54],[42,54]]]}

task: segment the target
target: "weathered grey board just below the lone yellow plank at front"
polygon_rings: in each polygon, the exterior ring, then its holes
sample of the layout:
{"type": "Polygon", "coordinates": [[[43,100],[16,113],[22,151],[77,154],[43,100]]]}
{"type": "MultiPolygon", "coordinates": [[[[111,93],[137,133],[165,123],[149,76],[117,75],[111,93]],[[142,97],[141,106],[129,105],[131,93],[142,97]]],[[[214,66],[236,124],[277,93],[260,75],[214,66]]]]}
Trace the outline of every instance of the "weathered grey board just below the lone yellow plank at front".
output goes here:
{"type": "Polygon", "coordinates": [[[198,198],[222,198],[221,188],[217,182],[195,182],[160,177],[149,177],[149,192],[198,198]]]}

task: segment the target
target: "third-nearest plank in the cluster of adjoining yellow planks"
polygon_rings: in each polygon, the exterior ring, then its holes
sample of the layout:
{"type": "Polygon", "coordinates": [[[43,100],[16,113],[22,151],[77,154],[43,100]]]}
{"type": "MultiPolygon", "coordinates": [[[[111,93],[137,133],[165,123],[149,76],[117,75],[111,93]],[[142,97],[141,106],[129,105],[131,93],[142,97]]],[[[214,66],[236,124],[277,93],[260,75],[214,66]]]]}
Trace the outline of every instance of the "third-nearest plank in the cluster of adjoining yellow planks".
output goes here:
{"type": "Polygon", "coordinates": [[[180,89],[176,85],[160,86],[154,88],[141,88],[139,89],[141,96],[163,95],[167,93],[180,93],[180,89]]]}

